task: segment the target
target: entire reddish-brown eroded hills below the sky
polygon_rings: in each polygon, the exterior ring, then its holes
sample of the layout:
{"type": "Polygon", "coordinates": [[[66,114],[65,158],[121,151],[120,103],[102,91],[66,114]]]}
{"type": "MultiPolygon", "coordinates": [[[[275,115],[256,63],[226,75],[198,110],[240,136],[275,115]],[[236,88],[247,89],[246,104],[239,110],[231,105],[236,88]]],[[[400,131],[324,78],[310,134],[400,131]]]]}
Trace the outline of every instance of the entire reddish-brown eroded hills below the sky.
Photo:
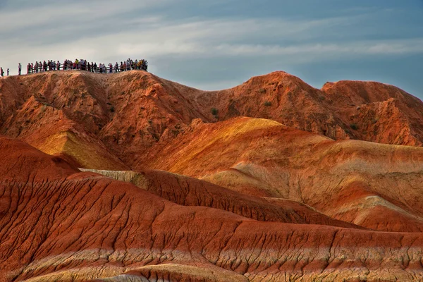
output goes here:
{"type": "Polygon", "coordinates": [[[0,282],[422,281],[422,113],[283,72],[2,78],[0,282]]]}

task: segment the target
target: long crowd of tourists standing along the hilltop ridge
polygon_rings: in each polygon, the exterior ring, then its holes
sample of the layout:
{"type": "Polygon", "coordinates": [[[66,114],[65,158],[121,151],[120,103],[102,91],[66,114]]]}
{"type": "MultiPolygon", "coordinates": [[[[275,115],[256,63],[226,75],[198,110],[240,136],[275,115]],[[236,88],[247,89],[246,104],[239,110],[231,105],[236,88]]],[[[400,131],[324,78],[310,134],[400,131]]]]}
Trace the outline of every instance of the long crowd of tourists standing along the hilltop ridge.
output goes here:
{"type": "MultiPolygon", "coordinates": [[[[146,60],[131,60],[116,62],[115,64],[109,63],[107,66],[104,63],[93,63],[85,59],[75,59],[75,61],[65,60],[63,63],[60,61],[36,61],[35,63],[27,64],[27,74],[30,73],[41,73],[44,71],[71,71],[81,70],[89,71],[91,73],[120,73],[123,71],[131,70],[148,70],[148,62],[146,60]]],[[[18,75],[22,73],[22,65],[18,64],[18,75]]],[[[0,68],[0,75],[4,76],[3,68],[0,68]]],[[[7,75],[9,75],[9,69],[7,69],[7,75]]]]}

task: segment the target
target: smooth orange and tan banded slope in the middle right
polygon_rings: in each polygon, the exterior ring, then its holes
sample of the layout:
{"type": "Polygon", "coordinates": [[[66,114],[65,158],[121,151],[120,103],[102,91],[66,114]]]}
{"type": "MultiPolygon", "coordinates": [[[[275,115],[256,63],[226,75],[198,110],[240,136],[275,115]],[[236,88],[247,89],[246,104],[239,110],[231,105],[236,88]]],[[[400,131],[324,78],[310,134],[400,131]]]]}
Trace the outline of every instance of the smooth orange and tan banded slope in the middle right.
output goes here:
{"type": "Polygon", "coordinates": [[[367,228],[423,230],[423,149],[419,147],[335,142],[276,121],[235,118],[193,123],[184,135],[157,145],[138,161],[140,168],[302,202],[367,228]]]}

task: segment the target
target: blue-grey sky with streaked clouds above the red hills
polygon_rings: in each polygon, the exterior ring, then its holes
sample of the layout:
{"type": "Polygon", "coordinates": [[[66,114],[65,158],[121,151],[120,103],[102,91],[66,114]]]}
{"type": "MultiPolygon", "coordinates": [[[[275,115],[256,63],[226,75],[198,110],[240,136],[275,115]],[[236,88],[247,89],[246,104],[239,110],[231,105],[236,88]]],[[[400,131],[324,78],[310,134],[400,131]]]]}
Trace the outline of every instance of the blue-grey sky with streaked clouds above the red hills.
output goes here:
{"type": "Polygon", "coordinates": [[[286,71],[314,87],[376,80],[423,99],[423,0],[0,0],[0,66],[147,59],[221,90],[286,71]]]}

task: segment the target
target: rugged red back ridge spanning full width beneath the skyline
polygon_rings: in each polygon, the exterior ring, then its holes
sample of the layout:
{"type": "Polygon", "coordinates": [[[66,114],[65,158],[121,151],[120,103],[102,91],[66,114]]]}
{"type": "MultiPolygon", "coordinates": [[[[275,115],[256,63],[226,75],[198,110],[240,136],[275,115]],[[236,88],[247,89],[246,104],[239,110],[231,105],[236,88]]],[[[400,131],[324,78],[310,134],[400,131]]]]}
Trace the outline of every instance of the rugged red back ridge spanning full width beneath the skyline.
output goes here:
{"type": "Polygon", "coordinates": [[[317,90],[284,72],[214,92],[144,71],[61,71],[0,80],[1,134],[78,166],[108,170],[135,167],[145,151],[177,137],[196,118],[267,118],[334,140],[421,146],[422,112],[419,99],[390,85],[337,82],[317,90]],[[54,152],[44,140],[58,143],[54,152]]]}

